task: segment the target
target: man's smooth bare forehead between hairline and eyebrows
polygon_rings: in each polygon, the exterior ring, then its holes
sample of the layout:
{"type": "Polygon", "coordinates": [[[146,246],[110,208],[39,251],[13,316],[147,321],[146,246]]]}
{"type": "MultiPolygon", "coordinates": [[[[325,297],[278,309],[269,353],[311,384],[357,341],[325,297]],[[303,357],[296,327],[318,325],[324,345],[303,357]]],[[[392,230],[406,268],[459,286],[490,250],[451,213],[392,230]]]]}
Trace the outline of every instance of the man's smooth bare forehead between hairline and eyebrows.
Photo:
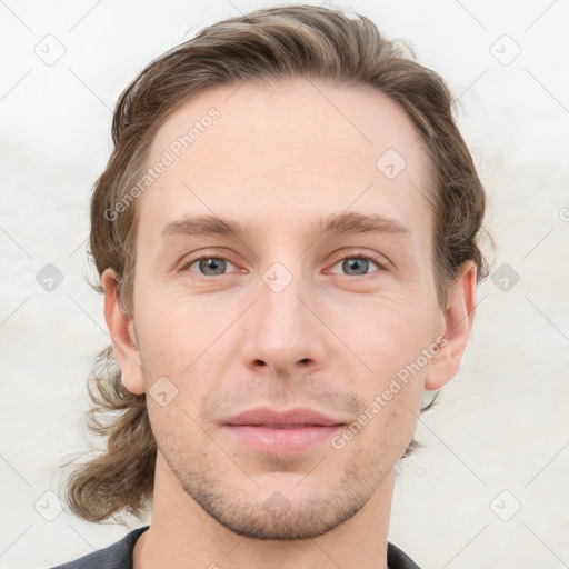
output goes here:
{"type": "Polygon", "coordinates": [[[376,90],[313,80],[209,89],[158,129],[138,203],[150,239],[184,212],[290,231],[310,213],[375,211],[430,230],[429,162],[405,111],[376,90]]]}

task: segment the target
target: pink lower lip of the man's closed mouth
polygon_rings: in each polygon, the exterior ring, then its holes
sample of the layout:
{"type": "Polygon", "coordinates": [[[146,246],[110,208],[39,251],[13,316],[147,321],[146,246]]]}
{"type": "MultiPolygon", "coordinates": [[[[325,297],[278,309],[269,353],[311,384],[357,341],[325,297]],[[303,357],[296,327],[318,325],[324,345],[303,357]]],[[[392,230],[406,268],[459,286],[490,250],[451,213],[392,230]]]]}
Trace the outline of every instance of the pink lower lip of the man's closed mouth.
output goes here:
{"type": "Polygon", "coordinates": [[[343,425],[312,425],[292,429],[274,429],[252,425],[224,425],[223,431],[259,452],[292,455],[329,440],[343,425]]]}

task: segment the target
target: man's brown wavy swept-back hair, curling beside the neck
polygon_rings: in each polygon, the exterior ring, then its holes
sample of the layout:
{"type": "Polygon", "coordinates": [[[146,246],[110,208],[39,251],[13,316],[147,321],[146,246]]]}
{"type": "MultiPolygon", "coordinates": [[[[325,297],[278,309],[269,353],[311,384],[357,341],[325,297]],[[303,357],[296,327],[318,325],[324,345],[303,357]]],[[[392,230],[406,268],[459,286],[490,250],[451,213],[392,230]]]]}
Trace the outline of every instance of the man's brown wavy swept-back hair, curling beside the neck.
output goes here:
{"type": "MultiPolygon", "coordinates": [[[[488,264],[479,247],[485,190],[453,119],[456,100],[442,78],[419,64],[406,41],[386,39],[363,16],[281,6],[206,28],[152,61],[120,96],[112,121],[114,149],[91,199],[89,254],[99,277],[107,268],[114,270],[126,313],[134,315],[137,208],[126,208],[116,219],[110,219],[109,211],[144,174],[157,129],[206,89],[284,78],[376,89],[398,102],[418,130],[433,167],[432,266],[439,305],[446,305],[447,290],[465,261],[476,262],[478,281],[487,277],[488,264]]],[[[100,279],[92,286],[102,292],[100,279]]],[[[92,401],[88,427],[103,438],[106,450],[74,465],[66,501],[76,516],[88,521],[117,520],[122,512],[140,519],[153,497],[157,453],[146,395],[133,395],[122,386],[112,346],[97,355],[88,391],[92,401]]],[[[412,439],[402,457],[419,447],[412,439]]]]}

